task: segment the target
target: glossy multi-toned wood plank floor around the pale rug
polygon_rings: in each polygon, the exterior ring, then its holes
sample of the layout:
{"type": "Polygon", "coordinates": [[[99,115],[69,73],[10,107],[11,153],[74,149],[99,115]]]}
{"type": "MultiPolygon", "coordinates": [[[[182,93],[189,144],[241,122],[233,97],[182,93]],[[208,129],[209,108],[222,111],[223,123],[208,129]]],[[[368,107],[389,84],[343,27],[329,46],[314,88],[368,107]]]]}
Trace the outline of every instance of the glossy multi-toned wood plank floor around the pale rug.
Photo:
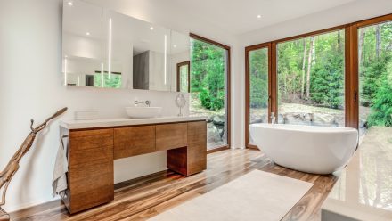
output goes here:
{"type": "Polygon", "coordinates": [[[184,177],[171,171],[159,172],[116,184],[114,201],[73,216],[59,201],[53,201],[15,212],[12,220],[145,220],[254,169],[314,183],[282,220],[320,220],[320,206],[338,178],[279,167],[260,151],[218,151],[208,154],[208,169],[200,174],[184,177]]]}

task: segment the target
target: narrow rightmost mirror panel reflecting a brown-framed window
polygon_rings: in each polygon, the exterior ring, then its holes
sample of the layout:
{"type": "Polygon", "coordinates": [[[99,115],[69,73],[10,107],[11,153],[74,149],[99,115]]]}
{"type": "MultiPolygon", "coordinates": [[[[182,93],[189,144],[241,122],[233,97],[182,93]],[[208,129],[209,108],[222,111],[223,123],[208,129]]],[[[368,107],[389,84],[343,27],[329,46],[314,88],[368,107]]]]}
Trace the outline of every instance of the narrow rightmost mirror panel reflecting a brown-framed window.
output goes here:
{"type": "Polygon", "coordinates": [[[172,31],[171,42],[171,76],[172,91],[190,92],[190,38],[187,35],[172,31]]]}

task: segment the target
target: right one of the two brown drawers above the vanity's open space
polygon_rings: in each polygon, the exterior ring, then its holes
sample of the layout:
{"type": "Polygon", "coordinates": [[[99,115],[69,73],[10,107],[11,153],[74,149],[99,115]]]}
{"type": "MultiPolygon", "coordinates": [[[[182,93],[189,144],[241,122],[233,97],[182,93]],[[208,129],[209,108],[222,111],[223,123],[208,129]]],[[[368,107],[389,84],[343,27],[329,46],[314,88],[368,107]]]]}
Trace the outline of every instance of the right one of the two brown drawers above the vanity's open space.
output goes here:
{"type": "Polygon", "coordinates": [[[188,143],[187,135],[187,123],[157,125],[157,151],[165,151],[186,146],[188,143]]]}

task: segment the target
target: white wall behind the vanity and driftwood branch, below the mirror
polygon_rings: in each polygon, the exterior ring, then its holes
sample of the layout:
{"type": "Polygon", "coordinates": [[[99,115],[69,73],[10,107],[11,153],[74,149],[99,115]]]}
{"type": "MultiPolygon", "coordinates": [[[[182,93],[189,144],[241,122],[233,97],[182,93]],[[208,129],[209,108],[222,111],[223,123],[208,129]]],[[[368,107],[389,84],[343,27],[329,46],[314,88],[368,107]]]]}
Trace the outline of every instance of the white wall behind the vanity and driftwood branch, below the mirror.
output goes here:
{"type": "MultiPolygon", "coordinates": [[[[162,106],[176,115],[176,93],[62,86],[61,1],[10,0],[0,5],[0,169],[26,135],[29,119],[37,123],[67,106],[94,109],[102,118],[126,117],[124,107],[135,99],[162,106]]],[[[5,209],[12,211],[53,200],[52,174],[59,145],[59,119],[37,137],[20,162],[7,192],[5,209]]],[[[165,152],[115,161],[115,180],[123,181],[166,168],[165,152]]]]}

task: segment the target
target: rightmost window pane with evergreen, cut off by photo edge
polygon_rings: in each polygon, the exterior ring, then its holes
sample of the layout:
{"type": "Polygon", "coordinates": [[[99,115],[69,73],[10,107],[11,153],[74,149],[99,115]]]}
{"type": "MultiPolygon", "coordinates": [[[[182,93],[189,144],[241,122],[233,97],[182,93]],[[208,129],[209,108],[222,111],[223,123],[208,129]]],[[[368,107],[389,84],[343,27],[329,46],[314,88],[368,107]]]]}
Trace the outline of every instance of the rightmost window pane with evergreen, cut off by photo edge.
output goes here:
{"type": "Polygon", "coordinates": [[[360,135],[392,143],[392,21],[358,29],[358,68],[360,135]]]}

